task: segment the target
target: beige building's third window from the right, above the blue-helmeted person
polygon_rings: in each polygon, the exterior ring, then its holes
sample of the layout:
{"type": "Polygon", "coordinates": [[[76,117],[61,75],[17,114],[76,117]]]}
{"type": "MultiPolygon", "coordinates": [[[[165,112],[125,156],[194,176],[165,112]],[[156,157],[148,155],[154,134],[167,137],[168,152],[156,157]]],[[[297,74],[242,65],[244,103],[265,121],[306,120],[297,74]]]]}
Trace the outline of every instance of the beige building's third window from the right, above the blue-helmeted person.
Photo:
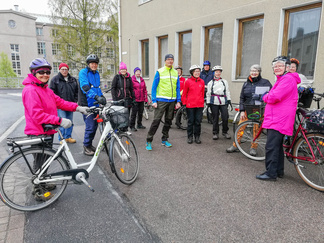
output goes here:
{"type": "Polygon", "coordinates": [[[223,25],[213,25],[205,28],[204,60],[209,60],[212,66],[221,65],[223,25]]]}

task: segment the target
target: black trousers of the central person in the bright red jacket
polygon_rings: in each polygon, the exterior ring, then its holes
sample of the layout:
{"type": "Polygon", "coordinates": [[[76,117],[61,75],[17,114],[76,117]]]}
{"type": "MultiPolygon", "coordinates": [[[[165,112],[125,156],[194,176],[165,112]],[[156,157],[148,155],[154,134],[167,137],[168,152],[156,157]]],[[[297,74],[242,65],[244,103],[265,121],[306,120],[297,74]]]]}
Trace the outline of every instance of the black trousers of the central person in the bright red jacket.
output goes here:
{"type": "Polygon", "coordinates": [[[186,108],[188,116],[187,135],[188,138],[199,137],[201,134],[201,121],[203,116],[203,107],[186,108]]]}

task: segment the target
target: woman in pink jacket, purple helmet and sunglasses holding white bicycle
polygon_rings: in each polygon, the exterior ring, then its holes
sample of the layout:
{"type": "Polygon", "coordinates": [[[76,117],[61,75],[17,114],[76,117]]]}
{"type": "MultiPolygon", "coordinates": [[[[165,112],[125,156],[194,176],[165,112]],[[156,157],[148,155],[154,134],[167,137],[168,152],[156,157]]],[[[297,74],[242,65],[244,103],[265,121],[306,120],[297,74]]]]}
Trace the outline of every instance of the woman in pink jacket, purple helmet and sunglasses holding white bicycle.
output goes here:
{"type": "MultiPolygon", "coordinates": [[[[83,114],[87,114],[88,108],[78,106],[74,102],[65,101],[54,94],[53,90],[51,90],[47,84],[52,67],[45,59],[34,59],[29,65],[29,70],[31,73],[28,74],[27,78],[23,81],[25,87],[22,91],[26,120],[25,134],[28,136],[50,135],[53,141],[53,134],[56,133],[56,131],[44,131],[43,125],[60,125],[64,128],[72,126],[71,120],[61,118],[57,115],[57,109],[79,111],[83,114]]],[[[51,144],[52,143],[50,143],[50,146],[51,144]]],[[[40,158],[36,157],[33,170],[36,172],[45,160],[46,158],[44,158],[44,156],[40,156],[40,158]]],[[[46,190],[50,191],[54,189],[55,184],[37,185],[37,188],[35,188],[36,200],[46,200],[43,194],[46,190]]]]}

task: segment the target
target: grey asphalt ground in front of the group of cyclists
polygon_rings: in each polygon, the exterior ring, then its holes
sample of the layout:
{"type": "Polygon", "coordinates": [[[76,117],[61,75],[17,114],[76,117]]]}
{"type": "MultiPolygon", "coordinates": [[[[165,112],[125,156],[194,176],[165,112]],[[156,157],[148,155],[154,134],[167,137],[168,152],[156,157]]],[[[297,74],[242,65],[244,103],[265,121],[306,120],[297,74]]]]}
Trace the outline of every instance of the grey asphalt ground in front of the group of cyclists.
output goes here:
{"type": "MultiPolygon", "coordinates": [[[[71,148],[84,162],[78,119],[78,143],[71,148]]],[[[132,135],[140,155],[133,185],[121,184],[102,154],[103,170],[96,167],[89,180],[96,192],[71,185],[53,206],[26,214],[25,241],[324,242],[324,194],[308,187],[289,162],[284,179],[259,181],[264,162],[227,154],[232,141],[213,141],[206,121],[201,145],[187,144],[186,132],[173,125],[172,148],[161,146],[160,127],[153,151],[146,151],[147,130],[132,135]]]]}

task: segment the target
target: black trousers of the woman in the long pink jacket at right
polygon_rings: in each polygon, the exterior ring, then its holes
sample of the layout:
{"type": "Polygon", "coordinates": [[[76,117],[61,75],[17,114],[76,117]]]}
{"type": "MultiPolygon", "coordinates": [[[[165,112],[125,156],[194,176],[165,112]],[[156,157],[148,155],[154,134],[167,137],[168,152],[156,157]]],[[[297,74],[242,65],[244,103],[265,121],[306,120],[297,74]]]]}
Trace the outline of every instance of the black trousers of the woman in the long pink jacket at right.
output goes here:
{"type": "Polygon", "coordinates": [[[266,174],[273,178],[277,178],[278,174],[284,173],[283,138],[284,135],[277,130],[267,130],[265,166],[266,174]]]}

